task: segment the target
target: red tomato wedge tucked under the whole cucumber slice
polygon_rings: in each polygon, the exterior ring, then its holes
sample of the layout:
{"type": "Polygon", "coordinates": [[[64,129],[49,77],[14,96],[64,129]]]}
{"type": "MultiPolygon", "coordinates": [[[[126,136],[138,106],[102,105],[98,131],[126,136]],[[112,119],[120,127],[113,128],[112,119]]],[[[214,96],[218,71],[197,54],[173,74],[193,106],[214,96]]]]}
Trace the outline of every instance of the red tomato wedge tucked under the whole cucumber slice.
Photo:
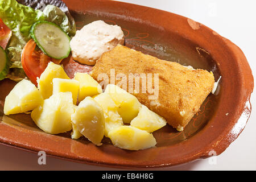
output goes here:
{"type": "Polygon", "coordinates": [[[53,59],[45,55],[40,49],[36,49],[36,43],[33,39],[29,40],[23,48],[21,56],[22,67],[27,77],[36,86],[38,85],[37,77],[41,76],[50,61],[60,64],[62,60],[53,59]]]}

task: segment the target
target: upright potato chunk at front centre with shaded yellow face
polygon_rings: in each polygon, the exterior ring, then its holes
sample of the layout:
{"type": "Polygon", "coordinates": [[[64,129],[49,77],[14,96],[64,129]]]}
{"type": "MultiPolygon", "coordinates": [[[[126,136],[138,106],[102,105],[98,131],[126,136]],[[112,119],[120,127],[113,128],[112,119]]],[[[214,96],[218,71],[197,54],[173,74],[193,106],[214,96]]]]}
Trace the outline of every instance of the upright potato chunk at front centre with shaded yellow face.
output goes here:
{"type": "Polygon", "coordinates": [[[92,97],[82,100],[71,118],[72,123],[84,137],[97,146],[102,144],[101,140],[105,132],[104,111],[92,97]]]}

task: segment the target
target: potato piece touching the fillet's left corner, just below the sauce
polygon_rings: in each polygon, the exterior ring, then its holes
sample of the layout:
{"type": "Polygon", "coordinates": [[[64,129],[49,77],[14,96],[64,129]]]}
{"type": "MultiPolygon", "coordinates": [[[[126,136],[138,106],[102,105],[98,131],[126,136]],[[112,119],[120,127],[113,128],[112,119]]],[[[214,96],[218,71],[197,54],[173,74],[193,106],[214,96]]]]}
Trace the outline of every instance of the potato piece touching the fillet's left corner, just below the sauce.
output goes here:
{"type": "Polygon", "coordinates": [[[74,79],[79,81],[79,102],[87,96],[92,97],[102,93],[101,85],[88,73],[76,73],[74,79]]]}

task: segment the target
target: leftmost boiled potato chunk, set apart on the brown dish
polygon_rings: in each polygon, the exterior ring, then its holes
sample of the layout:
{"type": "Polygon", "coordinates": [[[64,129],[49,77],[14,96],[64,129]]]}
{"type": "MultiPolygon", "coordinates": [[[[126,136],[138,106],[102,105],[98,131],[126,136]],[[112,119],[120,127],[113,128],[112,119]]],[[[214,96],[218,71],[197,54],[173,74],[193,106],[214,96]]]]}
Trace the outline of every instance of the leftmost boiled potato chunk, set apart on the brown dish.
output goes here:
{"type": "Polygon", "coordinates": [[[35,109],[42,102],[42,94],[36,86],[28,80],[22,80],[14,86],[5,98],[3,112],[6,115],[24,113],[35,109]]]}

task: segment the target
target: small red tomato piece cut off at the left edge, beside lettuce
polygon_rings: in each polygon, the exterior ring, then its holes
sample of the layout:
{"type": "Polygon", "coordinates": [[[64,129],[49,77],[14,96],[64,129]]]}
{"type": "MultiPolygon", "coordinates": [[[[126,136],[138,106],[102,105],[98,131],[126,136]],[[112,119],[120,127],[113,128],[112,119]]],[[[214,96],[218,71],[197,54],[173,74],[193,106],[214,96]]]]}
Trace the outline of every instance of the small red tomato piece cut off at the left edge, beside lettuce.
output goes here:
{"type": "Polygon", "coordinates": [[[11,39],[12,32],[10,28],[3,23],[3,20],[0,18],[0,46],[5,49],[9,40],[11,39]]]}

